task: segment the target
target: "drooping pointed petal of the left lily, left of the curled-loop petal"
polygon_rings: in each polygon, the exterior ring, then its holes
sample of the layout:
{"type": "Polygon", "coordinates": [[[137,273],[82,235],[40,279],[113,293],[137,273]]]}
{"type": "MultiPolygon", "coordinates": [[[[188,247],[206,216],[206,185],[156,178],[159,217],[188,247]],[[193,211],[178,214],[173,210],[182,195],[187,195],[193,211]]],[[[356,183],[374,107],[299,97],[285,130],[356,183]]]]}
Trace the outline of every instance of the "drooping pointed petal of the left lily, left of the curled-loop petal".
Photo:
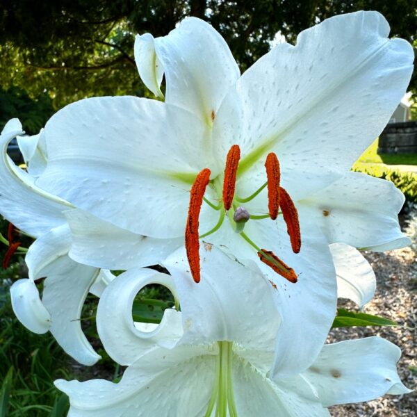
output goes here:
{"type": "Polygon", "coordinates": [[[42,304],[49,311],[49,330],[63,350],[84,365],[93,365],[100,356],[81,329],[81,309],[99,270],[70,259],[71,235],[67,224],[52,229],[31,245],[26,254],[29,276],[47,277],[42,304]]]}

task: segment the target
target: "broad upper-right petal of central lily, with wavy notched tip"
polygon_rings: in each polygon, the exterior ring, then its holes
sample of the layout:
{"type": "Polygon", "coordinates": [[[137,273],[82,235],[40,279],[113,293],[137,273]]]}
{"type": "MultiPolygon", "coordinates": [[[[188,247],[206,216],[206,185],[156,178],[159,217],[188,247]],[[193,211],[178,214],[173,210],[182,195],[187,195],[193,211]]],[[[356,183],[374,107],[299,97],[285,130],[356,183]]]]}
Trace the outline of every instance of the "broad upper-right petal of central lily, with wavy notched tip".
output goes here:
{"type": "Polygon", "coordinates": [[[295,46],[277,45],[224,100],[215,149],[224,158],[240,145],[248,178],[263,168],[259,161],[250,170],[255,155],[276,152],[284,186],[297,198],[314,172],[349,170],[386,126],[413,71],[411,45],[388,35],[382,15],[357,12],[306,29],[295,46]]]}

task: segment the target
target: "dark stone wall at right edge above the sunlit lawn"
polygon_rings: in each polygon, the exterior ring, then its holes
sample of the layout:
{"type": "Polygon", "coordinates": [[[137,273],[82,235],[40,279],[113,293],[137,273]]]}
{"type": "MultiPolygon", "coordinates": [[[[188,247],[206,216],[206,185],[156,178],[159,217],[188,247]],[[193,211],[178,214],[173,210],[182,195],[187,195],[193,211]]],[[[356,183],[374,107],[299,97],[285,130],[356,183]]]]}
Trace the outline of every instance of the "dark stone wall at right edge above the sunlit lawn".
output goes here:
{"type": "Polygon", "coordinates": [[[378,154],[417,154],[417,121],[387,124],[379,135],[378,154]]]}

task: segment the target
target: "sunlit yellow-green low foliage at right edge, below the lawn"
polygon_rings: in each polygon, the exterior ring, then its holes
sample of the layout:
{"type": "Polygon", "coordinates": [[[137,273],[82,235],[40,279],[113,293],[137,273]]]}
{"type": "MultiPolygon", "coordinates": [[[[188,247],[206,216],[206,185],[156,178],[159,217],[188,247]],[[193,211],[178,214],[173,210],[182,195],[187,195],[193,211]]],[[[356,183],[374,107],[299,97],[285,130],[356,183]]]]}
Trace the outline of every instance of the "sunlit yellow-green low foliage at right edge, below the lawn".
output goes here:
{"type": "Polygon", "coordinates": [[[417,174],[414,172],[402,172],[390,170],[385,165],[379,164],[355,164],[355,172],[363,172],[373,177],[386,179],[394,183],[409,202],[417,203],[417,174]]]}

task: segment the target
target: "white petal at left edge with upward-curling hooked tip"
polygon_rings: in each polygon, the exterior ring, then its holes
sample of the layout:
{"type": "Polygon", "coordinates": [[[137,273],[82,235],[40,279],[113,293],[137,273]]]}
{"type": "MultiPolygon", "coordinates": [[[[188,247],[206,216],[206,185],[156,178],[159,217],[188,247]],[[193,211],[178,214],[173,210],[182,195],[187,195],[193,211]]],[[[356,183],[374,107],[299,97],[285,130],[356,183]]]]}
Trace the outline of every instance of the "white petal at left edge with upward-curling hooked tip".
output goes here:
{"type": "Polygon", "coordinates": [[[45,193],[33,184],[33,178],[8,157],[7,145],[22,135],[19,120],[10,120],[0,136],[0,213],[31,236],[38,237],[65,222],[67,202],[45,193]]]}

